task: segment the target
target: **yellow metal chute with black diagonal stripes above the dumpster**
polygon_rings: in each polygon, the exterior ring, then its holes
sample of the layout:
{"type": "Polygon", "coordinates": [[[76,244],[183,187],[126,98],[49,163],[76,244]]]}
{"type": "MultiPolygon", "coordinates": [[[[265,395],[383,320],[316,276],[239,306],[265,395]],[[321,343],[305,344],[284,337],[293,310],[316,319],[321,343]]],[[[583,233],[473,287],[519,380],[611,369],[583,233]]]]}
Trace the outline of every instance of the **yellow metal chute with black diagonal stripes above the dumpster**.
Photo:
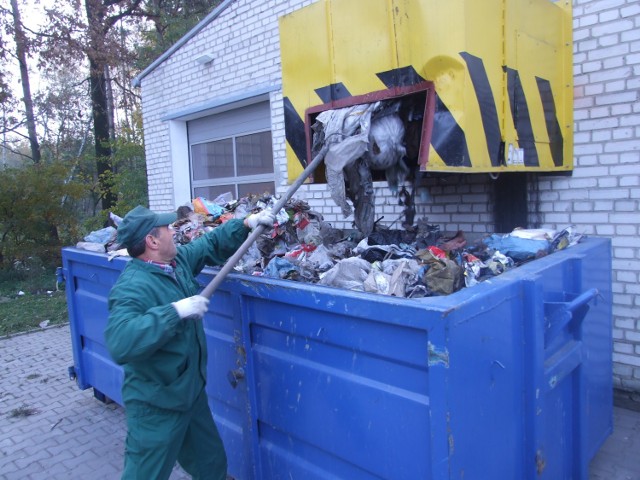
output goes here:
{"type": "Polygon", "coordinates": [[[571,32],[568,0],[320,0],[282,17],[289,178],[317,112],[420,92],[422,170],[571,170],[571,32]]]}

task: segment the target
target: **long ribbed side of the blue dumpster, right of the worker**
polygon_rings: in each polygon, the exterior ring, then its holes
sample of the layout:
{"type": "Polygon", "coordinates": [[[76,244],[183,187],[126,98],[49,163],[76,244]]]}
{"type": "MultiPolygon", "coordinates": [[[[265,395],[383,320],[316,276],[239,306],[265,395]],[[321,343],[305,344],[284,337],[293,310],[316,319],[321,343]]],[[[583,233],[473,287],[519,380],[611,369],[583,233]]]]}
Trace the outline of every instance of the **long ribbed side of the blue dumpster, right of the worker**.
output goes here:
{"type": "MultiPolygon", "coordinates": [[[[432,420],[430,407],[430,368],[445,368],[429,351],[430,340],[443,343],[437,305],[244,276],[229,276],[212,305],[216,321],[207,322],[207,335],[233,336],[239,352],[235,364],[210,362],[214,412],[220,414],[216,405],[228,407],[227,368],[243,366],[249,389],[246,403],[232,409],[249,416],[237,431],[253,437],[246,448],[254,457],[246,461],[254,471],[230,465],[230,474],[430,478],[446,462],[446,440],[432,431],[432,423],[444,430],[444,421],[432,420]],[[218,331],[220,310],[233,311],[228,302],[222,306],[221,290],[239,299],[242,346],[237,331],[218,331]]],[[[210,357],[212,349],[225,348],[212,345],[210,357]]]]}

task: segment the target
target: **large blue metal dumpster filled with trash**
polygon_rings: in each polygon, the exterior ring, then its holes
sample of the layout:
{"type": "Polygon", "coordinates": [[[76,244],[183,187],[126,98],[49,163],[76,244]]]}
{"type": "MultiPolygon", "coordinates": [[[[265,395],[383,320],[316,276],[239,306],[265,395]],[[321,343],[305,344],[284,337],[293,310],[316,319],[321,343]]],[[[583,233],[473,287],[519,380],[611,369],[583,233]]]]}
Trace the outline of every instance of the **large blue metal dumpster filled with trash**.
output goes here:
{"type": "MultiPolygon", "coordinates": [[[[613,425],[610,251],[588,238],[422,299],[229,275],[205,317],[229,474],[587,479],[613,425]]],[[[78,386],[118,403],[102,332],[126,261],[63,250],[78,386]]]]}

